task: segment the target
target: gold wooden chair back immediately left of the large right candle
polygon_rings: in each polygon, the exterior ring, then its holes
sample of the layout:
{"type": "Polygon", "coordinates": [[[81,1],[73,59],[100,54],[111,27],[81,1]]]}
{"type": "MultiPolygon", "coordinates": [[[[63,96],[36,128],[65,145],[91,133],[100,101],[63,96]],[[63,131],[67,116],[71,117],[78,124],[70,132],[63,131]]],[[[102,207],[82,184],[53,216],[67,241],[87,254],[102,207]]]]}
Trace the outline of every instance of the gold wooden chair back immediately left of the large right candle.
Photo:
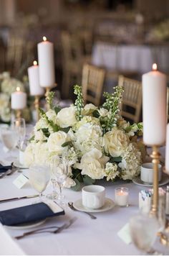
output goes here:
{"type": "Polygon", "coordinates": [[[122,94],[121,114],[132,122],[139,122],[142,106],[142,83],[125,76],[119,76],[119,86],[124,88],[122,94]]]}

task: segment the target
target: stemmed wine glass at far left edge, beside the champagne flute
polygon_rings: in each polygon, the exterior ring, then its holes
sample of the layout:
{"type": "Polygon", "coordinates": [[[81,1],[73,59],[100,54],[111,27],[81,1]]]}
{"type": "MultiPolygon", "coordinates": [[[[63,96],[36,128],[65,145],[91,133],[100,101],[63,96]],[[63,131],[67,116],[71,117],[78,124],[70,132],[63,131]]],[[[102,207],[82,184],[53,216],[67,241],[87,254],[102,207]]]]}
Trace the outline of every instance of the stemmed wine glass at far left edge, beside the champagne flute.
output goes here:
{"type": "Polygon", "coordinates": [[[7,152],[9,156],[6,157],[5,160],[7,162],[14,162],[14,160],[16,160],[16,157],[14,157],[14,155],[11,155],[11,153],[17,145],[16,130],[13,127],[3,127],[1,129],[1,140],[4,144],[4,147],[6,147],[9,150],[7,152]]]}

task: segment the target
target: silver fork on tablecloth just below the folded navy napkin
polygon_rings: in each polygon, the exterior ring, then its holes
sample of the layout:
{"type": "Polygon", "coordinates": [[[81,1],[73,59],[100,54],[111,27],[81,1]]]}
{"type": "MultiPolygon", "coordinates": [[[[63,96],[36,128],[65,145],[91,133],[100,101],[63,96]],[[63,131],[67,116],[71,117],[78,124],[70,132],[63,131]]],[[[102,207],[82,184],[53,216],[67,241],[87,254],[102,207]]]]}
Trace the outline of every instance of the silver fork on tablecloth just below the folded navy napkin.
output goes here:
{"type": "Polygon", "coordinates": [[[20,236],[14,237],[16,239],[21,239],[24,238],[26,236],[29,236],[31,234],[40,234],[40,233],[52,233],[52,234],[57,234],[62,232],[62,230],[64,229],[68,229],[73,223],[74,221],[76,221],[77,218],[74,217],[73,219],[70,219],[67,223],[64,223],[61,227],[57,227],[57,226],[53,226],[53,227],[44,227],[42,229],[35,229],[32,230],[30,232],[25,232],[24,234],[21,234],[20,236]],[[54,230],[46,230],[46,229],[54,229],[54,230]]]}

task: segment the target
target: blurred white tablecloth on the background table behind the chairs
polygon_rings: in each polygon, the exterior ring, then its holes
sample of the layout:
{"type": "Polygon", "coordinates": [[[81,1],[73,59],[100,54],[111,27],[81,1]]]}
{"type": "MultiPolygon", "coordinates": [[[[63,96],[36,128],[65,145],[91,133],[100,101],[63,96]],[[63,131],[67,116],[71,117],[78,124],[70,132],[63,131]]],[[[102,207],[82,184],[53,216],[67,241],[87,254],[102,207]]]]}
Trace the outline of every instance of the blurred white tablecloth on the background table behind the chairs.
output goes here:
{"type": "Polygon", "coordinates": [[[153,63],[159,70],[169,72],[169,45],[111,45],[96,42],[92,52],[92,64],[107,70],[135,71],[146,73],[153,63]]]}

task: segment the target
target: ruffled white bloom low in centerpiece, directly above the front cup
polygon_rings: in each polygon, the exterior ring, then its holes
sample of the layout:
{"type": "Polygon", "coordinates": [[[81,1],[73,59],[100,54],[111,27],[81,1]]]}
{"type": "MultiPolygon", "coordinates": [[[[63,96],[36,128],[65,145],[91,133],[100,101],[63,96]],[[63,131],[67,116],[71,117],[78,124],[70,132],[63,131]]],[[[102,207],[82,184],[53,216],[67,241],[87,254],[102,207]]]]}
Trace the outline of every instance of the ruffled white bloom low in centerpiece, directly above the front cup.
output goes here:
{"type": "Polygon", "coordinates": [[[109,157],[103,156],[100,150],[93,149],[84,154],[81,162],[76,166],[82,170],[82,175],[88,175],[92,179],[101,179],[105,176],[104,168],[108,160],[109,157]]]}

